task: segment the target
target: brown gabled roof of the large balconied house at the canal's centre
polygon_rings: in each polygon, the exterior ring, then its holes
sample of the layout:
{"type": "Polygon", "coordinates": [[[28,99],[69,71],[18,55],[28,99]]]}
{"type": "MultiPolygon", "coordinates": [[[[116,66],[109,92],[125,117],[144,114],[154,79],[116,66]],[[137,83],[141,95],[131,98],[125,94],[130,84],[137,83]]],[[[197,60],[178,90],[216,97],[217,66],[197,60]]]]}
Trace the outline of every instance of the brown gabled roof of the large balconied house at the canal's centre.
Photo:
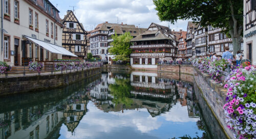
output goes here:
{"type": "Polygon", "coordinates": [[[175,40],[174,34],[172,34],[172,31],[168,27],[164,27],[158,24],[155,24],[154,22],[148,27],[147,31],[144,33],[138,35],[137,37],[133,38],[131,41],[143,41],[143,40],[162,40],[162,39],[168,39],[168,40],[175,40]],[[155,34],[154,37],[143,37],[143,35],[149,35],[149,34],[155,34]]]}

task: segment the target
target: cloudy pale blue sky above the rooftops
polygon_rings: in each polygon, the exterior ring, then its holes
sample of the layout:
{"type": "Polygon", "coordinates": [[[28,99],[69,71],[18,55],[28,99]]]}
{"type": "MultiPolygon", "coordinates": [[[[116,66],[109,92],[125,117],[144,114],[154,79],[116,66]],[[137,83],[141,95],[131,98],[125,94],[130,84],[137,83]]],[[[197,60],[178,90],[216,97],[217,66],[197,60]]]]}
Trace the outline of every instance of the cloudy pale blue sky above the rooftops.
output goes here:
{"type": "Polygon", "coordinates": [[[135,25],[148,28],[152,22],[170,27],[172,30],[186,30],[187,20],[178,20],[175,25],[161,22],[157,16],[153,0],[50,0],[60,11],[60,18],[67,10],[75,10],[75,15],[83,27],[93,30],[98,24],[110,23],[135,25]]]}

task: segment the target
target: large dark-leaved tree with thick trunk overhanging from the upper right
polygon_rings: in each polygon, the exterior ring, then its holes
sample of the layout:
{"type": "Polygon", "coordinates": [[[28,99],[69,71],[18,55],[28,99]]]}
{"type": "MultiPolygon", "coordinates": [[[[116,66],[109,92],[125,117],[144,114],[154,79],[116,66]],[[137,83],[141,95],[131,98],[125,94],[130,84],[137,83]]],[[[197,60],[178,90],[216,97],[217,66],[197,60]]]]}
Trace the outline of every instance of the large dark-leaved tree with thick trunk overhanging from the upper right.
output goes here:
{"type": "Polygon", "coordinates": [[[161,21],[174,24],[178,19],[200,21],[203,27],[208,25],[225,29],[231,36],[233,52],[241,50],[243,35],[242,0],[153,0],[157,15],[161,21]]]}

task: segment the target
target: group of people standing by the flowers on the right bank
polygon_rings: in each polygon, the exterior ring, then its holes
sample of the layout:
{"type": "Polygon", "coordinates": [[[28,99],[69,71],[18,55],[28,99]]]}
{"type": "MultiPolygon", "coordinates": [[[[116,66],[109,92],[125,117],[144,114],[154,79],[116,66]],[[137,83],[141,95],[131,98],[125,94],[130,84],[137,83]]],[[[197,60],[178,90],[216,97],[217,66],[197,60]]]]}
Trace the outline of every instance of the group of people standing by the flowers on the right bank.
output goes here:
{"type": "MultiPolygon", "coordinates": [[[[221,59],[221,57],[218,57],[216,53],[206,54],[206,58],[211,60],[221,59]]],[[[240,66],[242,58],[243,56],[240,51],[237,52],[236,56],[233,56],[233,54],[229,52],[228,47],[225,48],[225,52],[222,54],[222,59],[231,59],[231,60],[236,59],[237,66],[240,66]]]]}

